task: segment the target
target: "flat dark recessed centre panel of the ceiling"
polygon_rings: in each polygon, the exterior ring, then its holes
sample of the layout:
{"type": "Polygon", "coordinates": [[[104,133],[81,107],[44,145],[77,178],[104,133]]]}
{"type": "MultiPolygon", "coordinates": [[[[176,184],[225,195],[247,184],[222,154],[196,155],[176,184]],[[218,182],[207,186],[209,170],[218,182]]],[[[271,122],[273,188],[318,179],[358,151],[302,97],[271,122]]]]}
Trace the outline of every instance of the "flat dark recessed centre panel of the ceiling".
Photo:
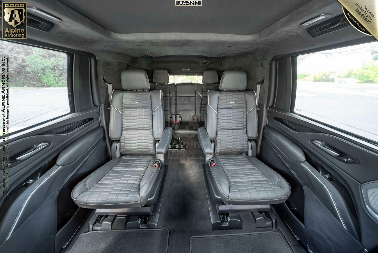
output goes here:
{"type": "Polygon", "coordinates": [[[310,0],[204,0],[202,6],[175,1],[59,0],[114,33],[256,34],[310,0]]]}

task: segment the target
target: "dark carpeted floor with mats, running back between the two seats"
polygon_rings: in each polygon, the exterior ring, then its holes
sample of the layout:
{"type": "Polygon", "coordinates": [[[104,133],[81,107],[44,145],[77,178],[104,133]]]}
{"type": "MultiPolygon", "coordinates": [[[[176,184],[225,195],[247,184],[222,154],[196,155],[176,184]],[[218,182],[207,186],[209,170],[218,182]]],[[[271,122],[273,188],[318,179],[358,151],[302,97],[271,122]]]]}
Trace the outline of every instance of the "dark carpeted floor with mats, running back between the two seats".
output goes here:
{"type": "MultiPolygon", "coordinates": [[[[272,229],[255,228],[250,212],[240,213],[242,230],[211,230],[202,171],[204,155],[197,136],[193,139],[183,139],[183,142],[186,144],[186,151],[168,150],[166,155],[165,163],[169,165],[169,169],[164,184],[157,230],[112,230],[84,233],[78,237],[77,241],[73,240],[76,242],[71,246],[73,248],[70,253],[177,253],[190,250],[193,253],[292,252],[279,230],[274,230],[276,233],[261,234],[272,229]],[[259,234],[251,234],[256,232],[259,234]],[[237,244],[241,245],[235,246],[237,244]],[[222,251],[224,249],[227,250],[222,251]],[[267,251],[263,251],[265,249],[267,251]]],[[[85,229],[83,226],[82,230],[85,229]]],[[[69,248],[67,247],[67,250],[69,248]]]]}

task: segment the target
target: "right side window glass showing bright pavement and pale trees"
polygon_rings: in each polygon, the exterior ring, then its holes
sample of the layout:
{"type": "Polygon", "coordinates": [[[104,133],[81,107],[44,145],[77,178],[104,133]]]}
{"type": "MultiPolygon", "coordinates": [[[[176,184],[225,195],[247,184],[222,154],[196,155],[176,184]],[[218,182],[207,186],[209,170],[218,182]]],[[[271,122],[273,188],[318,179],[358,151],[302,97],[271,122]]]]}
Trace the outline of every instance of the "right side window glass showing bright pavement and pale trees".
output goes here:
{"type": "Polygon", "coordinates": [[[297,57],[294,112],[378,143],[378,42],[297,57]]]}

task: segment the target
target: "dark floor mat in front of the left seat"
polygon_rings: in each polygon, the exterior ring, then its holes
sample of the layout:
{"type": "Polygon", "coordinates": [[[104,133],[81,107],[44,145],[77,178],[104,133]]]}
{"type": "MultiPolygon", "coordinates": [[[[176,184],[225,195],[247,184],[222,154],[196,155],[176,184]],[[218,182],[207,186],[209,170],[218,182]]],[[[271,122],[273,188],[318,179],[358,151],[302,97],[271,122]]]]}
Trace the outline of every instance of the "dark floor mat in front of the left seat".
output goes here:
{"type": "Polygon", "coordinates": [[[168,237],[166,228],[90,231],[80,235],[70,253],[166,253],[168,237]]]}

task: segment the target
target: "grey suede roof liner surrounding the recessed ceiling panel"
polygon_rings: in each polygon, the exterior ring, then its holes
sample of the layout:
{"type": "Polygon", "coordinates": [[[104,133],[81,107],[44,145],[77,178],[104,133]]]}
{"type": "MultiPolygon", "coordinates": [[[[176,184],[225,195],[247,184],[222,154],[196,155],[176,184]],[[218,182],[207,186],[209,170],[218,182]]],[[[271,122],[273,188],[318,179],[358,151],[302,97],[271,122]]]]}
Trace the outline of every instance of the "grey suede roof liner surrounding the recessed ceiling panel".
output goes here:
{"type": "MultiPolygon", "coordinates": [[[[322,13],[332,13],[330,18],[341,14],[341,4],[337,0],[313,0],[254,35],[214,33],[119,34],[106,30],[57,0],[28,0],[28,6],[42,9],[62,20],[58,22],[50,20],[54,23],[54,27],[48,32],[28,29],[28,39],[19,42],[31,43],[28,41],[36,40],[90,52],[98,59],[133,62],[133,66],[143,66],[146,69],[158,68],[158,66],[162,68],[166,60],[172,60],[178,66],[183,66],[188,64],[190,59],[184,58],[182,55],[191,55],[195,56],[192,59],[192,66],[189,67],[191,69],[213,68],[224,70],[226,68],[223,62],[228,62],[226,65],[228,67],[237,67],[241,64],[245,65],[251,59],[262,61],[271,59],[275,55],[319,48],[362,37],[373,39],[373,37],[360,33],[352,26],[313,38],[307,32],[308,27],[299,25],[322,13]],[[137,44],[141,46],[137,46],[137,44]],[[228,45],[232,45],[232,47],[228,47],[228,45]],[[156,57],[148,58],[144,55],[156,57]],[[171,58],[169,55],[181,56],[171,58]],[[226,57],[213,58],[220,55],[226,57]],[[158,56],[167,56],[167,58],[158,56]],[[209,64],[201,64],[201,61],[206,57],[213,59],[209,59],[209,64]],[[181,58],[181,61],[178,58],[181,58]]],[[[197,7],[187,8],[197,9],[197,7]]]]}

